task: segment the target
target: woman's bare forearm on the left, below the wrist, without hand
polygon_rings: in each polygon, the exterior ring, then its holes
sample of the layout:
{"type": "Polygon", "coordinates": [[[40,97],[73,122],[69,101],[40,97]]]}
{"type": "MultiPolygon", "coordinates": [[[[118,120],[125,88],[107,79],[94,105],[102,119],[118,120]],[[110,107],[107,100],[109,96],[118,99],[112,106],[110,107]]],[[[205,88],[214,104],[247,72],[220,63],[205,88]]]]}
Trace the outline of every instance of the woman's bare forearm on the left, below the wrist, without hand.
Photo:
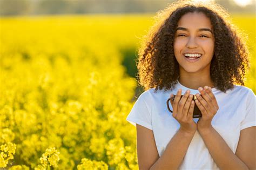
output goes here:
{"type": "Polygon", "coordinates": [[[153,164],[150,170],[178,169],[195,132],[189,133],[179,129],[166,146],[163,155],[153,164]]]}

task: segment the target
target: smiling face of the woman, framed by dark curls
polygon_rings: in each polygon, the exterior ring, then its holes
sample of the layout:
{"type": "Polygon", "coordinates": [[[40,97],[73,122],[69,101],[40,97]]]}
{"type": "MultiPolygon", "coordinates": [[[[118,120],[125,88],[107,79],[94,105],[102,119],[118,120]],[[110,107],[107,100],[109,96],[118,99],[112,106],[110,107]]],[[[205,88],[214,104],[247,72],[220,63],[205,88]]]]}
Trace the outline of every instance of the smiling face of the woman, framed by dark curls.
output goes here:
{"type": "Polygon", "coordinates": [[[179,63],[180,74],[210,75],[214,54],[214,35],[211,21],[204,13],[189,12],[180,18],[173,51],[179,63]],[[185,53],[200,53],[201,57],[191,60],[184,56],[185,53]]]}

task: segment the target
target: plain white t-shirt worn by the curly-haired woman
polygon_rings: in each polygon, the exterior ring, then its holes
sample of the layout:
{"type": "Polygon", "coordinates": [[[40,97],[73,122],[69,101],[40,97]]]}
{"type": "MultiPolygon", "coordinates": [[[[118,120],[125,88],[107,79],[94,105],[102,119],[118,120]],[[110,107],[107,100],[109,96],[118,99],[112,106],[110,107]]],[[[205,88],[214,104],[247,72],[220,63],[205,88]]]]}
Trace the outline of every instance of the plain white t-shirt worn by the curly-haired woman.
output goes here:
{"type": "MultiPolygon", "coordinates": [[[[126,118],[134,126],[139,124],[153,131],[159,156],[163,154],[167,144],[180,127],[178,121],[172,117],[172,113],[167,110],[166,105],[170,94],[176,95],[178,89],[182,89],[182,94],[184,94],[189,88],[178,81],[173,90],[164,92],[162,89],[154,93],[154,88],[152,88],[143,92],[126,118]]],[[[200,94],[198,90],[189,90],[191,94],[200,94]]],[[[216,88],[212,88],[212,91],[219,106],[218,112],[212,119],[212,126],[235,153],[240,131],[256,126],[255,94],[248,87],[237,85],[234,85],[234,89],[227,90],[226,93],[216,88]]],[[[172,110],[171,104],[170,108],[172,110]]],[[[197,122],[198,118],[193,120],[197,122]]],[[[198,131],[194,134],[180,169],[219,169],[198,131]]]]}

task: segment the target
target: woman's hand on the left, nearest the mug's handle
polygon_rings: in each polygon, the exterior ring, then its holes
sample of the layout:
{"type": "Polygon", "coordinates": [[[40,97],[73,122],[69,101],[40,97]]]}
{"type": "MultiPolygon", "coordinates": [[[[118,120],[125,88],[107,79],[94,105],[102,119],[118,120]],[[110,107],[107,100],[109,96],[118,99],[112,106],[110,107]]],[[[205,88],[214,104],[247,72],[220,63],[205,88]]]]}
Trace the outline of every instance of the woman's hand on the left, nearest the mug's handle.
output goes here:
{"type": "Polygon", "coordinates": [[[190,94],[190,90],[181,97],[181,89],[179,89],[174,100],[171,100],[172,117],[179,122],[180,130],[187,133],[197,131],[197,124],[193,120],[194,101],[192,99],[193,94],[190,94]]]}

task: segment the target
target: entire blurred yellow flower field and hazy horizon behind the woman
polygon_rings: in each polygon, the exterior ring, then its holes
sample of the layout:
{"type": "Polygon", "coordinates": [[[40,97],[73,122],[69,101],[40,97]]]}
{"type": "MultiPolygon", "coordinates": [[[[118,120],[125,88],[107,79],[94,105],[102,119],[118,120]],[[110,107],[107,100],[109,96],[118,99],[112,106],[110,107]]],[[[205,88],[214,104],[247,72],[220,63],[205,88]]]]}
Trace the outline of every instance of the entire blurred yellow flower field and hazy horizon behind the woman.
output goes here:
{"type": "MultiPolygon", "coordinates": [[[[138,47],[171,2],[0,0],[0,169],[138,169],[138,47]]],[[[215,2],[244,33],[256,93],[255,1],[215,2]]]]}

